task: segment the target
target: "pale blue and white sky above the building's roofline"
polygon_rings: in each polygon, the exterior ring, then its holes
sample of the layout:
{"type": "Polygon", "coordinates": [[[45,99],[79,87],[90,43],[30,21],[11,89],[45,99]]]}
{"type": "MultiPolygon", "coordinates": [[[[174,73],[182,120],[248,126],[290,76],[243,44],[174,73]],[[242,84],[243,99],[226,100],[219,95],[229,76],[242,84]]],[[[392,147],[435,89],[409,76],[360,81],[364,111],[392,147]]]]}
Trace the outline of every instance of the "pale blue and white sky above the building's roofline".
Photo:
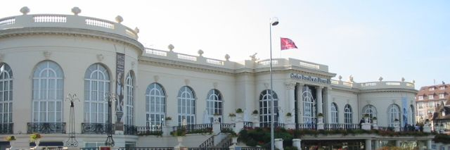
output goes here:
{"type": "Polygon", "coordinates": [[[30,14],[72,14],[114,20],[139,27],[146,47],[224,60],[243,61],[255,53],[269,58],[269,18],[274,58],[298,58],[329,66],[334,79],[355,82],[416,80],[416,89],[450,83],[450,1],[392,0],[190,0],[190,1],[23,1],[0,5],[0,18],[30,14]],[[280,52],[279,37],[298,49],[280,52]]]}

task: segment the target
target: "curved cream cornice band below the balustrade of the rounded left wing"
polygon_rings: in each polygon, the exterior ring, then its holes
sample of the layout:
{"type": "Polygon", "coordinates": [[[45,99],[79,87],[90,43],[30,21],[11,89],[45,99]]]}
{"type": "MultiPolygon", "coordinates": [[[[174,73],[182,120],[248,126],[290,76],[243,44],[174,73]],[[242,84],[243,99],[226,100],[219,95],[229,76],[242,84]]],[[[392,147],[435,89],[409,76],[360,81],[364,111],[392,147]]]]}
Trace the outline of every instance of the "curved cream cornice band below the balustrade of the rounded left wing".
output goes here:
{"type": "Polygon", "coordinates": [[[116,35],[109,32],[101,32],[97,30],[86,30],[77,29],[70,27],[23,27],[23,28],[13,28],[8,30],[0,30],[0,39],[8,37],[20,37],[29,35],[66,35],[75,37],[91,37],[96,39],[109,40],[113,42],[120,42],[123,44],[128,44],[129,46],[134,46],[139,49],[139,54],[144,51],[143,45],[131,39],[129,37],[124,37],[122,35],[116,35]]]}

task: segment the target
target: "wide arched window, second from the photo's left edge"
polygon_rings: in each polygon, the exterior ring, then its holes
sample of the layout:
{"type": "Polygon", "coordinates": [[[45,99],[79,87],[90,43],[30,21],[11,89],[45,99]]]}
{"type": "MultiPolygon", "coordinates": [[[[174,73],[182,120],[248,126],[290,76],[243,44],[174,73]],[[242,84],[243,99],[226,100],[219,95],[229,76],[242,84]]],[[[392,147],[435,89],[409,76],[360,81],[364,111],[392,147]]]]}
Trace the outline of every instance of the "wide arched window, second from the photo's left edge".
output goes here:
{"type": "Polygon", "coordinates": [[[63,122],[64,74],[53,61],[37,64],[33,73],[33,123],[63,122]]]}

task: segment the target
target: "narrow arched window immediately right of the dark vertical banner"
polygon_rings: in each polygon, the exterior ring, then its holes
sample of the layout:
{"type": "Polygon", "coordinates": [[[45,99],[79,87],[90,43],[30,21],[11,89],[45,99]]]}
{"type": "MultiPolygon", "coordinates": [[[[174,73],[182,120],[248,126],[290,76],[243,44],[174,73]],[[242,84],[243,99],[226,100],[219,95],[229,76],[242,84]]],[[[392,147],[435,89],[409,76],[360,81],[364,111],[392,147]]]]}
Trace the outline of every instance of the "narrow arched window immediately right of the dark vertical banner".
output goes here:
{"type": "Polygon", "coordinates": [[[134,75],[130,71],[125,80],[125,125],[134,125],[134,75]]]}

